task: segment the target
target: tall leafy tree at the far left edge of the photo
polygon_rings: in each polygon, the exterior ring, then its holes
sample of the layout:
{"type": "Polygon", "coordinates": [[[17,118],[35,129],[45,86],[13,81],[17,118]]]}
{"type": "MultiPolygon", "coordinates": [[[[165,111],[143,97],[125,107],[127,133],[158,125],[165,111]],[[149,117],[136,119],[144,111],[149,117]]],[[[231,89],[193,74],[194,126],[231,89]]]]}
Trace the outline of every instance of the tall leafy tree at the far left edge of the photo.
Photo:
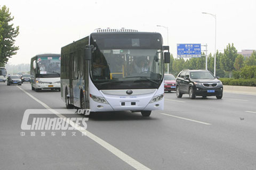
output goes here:
{"type": "Polygon", "coordinates": [[[12,55],[17,54],[14,38],[19,35],[19,26],[14,28],[10,22],[14,19],[5,5],[0,6],[0,63],[5,64],[12,55]]]}

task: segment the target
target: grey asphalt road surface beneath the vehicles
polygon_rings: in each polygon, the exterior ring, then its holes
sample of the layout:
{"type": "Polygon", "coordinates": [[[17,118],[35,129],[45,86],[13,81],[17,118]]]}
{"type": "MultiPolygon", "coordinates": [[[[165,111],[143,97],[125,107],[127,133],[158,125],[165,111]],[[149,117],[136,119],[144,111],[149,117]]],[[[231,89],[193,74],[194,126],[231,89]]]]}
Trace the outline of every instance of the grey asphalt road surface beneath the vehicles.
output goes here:
{"type": "Polygon", "coordinates": [[[60,92],[0,83],[0,169],[256,169],[255,95],[191,100],[166,93],[164,111],[150,117],[91,115],[87,131],[95,140],[79,131],[22,136],[26,109],[44,109],[42,103],[65,108],[60,92]]]}

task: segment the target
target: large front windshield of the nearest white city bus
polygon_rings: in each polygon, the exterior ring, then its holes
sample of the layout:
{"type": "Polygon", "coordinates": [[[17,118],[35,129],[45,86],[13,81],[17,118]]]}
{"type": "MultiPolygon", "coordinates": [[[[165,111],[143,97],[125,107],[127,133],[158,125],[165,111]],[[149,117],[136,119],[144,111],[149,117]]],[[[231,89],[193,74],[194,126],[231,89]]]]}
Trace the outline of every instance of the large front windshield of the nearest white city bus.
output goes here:
{"type": "Polygon", "coordinates": [[[102,41],[97,44],[94,39],[91,79],[95,86],[99,90],[158,88],[163,80],[163,56],[160,40],[156,37],[155,41],[150,46],[150,39],[105,39],[102,46],[102,41]]]}

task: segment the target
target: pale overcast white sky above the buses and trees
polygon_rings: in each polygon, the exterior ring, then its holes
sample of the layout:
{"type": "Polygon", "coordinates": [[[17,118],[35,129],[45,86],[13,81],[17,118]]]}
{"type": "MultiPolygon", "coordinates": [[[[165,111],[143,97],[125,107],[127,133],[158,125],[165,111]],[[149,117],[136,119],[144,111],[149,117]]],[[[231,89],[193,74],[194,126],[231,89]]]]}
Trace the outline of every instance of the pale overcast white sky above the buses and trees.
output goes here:
{"type": "MultiPolygon", "coordinates": [[[[97,28],[130,28],[159,32],[164,45],[169,40],[170,52],[177,57],[177,44],[208,45],[214,53],[217,15],[217,49],[230,43],[242,49],[256,49],[256,1],[190,1],[190,0],[1,0],[9,7],[14,27],[20,34],[15,39],[17,55],[8,64],[30,63],[42,53],[60,53],[61,47],[90,35],[97,28]],[[167,29],[157,27],[163,25],[167,29]]],[[[202,47],[204,50],[204,47],[202,47]]]]}

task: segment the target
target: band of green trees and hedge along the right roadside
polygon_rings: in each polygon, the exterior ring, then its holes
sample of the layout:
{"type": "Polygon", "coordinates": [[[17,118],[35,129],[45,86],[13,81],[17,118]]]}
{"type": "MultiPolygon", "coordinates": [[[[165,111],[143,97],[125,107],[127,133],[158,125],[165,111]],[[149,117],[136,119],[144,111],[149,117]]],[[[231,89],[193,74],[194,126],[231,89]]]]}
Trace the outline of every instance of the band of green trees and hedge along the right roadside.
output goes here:
{"type": "MultiPolygon", "coordinates": [[[[214,72],[214,55],[212,54],[208,56],[207,67],[209,71],[214,72]]],[[[205,56],[185,60],[171,55],[170,73],[177,76],[183,69],[205,69],[205,56]]],[[[167,64],[165,64],[165,70],[167,70],[167,64]]],[[[228,44],[223,53],[217,51],[216,76],[221,78],[224,85],[256,86],[256,52],[254,51],[250,57],[244,57],[237,54],[234,44],[228,44]]]]}

